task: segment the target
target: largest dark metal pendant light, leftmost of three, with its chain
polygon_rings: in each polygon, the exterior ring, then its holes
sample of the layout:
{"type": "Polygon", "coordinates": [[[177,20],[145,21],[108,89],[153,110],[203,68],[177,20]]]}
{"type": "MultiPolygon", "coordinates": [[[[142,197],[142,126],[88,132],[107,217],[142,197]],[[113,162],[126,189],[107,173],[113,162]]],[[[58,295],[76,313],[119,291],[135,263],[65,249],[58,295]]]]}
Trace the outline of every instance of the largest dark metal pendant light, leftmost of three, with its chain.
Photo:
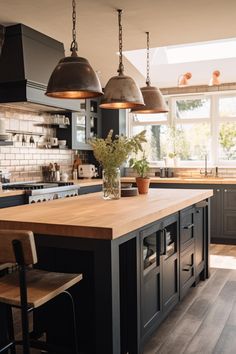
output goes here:
{"type": "Polygon", "coordinates": [[[71,56],[62,58],[48,82],[46,95],[54,98],[91,98],[103,94],[99,79],[87,59],[77,55],[76,2],[72,0],[71,56]]]}

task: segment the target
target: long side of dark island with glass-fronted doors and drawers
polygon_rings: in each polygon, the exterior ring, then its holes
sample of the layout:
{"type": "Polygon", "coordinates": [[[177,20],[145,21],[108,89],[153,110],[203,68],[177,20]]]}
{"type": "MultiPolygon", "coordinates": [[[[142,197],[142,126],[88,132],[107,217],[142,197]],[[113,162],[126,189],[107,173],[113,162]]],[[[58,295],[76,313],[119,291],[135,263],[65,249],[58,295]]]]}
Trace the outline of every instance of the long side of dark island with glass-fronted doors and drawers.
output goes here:
{"type": "Polygon", "coordinates": [[[208,202],[140,232],[141,348],[189,288],[208,276],[208,202]]]}

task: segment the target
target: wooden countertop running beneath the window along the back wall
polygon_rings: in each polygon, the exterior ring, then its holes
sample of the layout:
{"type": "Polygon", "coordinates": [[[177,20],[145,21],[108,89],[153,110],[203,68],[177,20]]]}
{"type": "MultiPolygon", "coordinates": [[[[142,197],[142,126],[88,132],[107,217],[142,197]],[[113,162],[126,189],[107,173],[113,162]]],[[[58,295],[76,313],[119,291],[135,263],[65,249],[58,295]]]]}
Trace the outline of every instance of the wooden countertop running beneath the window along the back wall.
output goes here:
{"type": "MultiPolygon", "coordinates": [[[[122,182],[134,183],[135,177],[122,177],[122,182]]],[[[151,177],[151,183],[179,183],[179,184],[236,184],[236,178],[221,178],[221,177],[171,177],[160,178],[151,177]]],[[[194,187],[193,187],[194,188],[194,187]]]]}

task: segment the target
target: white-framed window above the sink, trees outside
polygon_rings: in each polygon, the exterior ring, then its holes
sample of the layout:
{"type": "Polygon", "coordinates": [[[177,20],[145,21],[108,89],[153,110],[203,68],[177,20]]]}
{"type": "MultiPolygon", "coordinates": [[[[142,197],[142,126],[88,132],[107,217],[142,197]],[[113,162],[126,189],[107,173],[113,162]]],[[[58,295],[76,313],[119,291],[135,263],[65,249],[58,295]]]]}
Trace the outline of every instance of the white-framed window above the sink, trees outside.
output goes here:
{"type": "Polygon", "coordinates": [[[180,159],[180,166],[236,160],[236,94],[207,93],[168,98],[169,113],[131,115],[130,132],[147,131],[145,152],[151,162],[180,159]]]}

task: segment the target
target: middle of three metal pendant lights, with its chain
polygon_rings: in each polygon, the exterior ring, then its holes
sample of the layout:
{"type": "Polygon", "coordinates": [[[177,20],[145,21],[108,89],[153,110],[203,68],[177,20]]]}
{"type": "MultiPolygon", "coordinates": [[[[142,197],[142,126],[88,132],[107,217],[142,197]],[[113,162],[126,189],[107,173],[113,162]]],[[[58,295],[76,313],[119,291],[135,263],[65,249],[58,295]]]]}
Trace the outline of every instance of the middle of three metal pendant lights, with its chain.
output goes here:
{"type": "Polygon", "coordinates": [[[144,105],[139,87],[131,77],[124,75],[121,26],[122,10],[117,10],[117,12],[119,23],[119,68],[117,70],[118,76],[113,76],[106,84],[104,96],[101,99],[100,107],[107,109],[125,109],[144,105]]]}

